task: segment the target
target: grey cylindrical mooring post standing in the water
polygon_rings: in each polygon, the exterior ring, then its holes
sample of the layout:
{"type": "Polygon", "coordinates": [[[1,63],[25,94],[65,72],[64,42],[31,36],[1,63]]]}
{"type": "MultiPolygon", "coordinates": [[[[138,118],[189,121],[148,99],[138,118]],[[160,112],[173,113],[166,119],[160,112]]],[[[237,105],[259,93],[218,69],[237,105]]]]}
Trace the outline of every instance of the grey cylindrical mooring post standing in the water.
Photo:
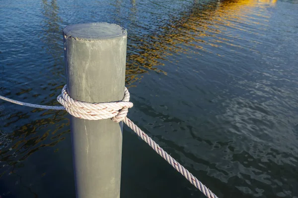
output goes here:
{"type": "MultiPolygon", "coordinates": [[[[64,28],[69,95],[86,102],[124,97],[127,32],[115,24],[64,28]]],[[[122,124],[71,117],[76,198],[119,198],[122,124]]]]}

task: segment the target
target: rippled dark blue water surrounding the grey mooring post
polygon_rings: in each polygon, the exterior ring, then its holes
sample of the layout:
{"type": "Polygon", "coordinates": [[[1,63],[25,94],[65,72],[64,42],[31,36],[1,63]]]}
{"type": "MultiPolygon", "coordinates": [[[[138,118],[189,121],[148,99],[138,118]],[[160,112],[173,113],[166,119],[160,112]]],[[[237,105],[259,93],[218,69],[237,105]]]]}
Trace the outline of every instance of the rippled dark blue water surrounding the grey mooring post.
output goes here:
{"type": "MultiPolygon", "coordinates": [[[[297,0],[2,0],[0,95],[57,105],[62,28],[128,30],[129,117],[220,198],[298,198],[297,0]]],[[[125,128],[122,198],[204,197],[125,128]]],[[[74,197],[69,115],[0,101],[0,196],[74,197]]]]}

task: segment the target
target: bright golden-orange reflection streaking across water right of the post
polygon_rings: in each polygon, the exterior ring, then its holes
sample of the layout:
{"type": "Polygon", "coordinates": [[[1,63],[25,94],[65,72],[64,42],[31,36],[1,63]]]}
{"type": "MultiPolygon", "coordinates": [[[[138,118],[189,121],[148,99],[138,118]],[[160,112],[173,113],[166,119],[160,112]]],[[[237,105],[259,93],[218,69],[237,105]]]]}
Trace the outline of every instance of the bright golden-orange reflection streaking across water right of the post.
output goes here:
{"type": "MultiPolygon", "coordinates": [[[[241,33],[226,34],[227,29],[253,35],[261,34],[260,31],[253,32],[249,27],[262,25],[262,21],[267,22],[269,16],[262,12],[255,13],[251,8],[259,2],[273,6],[276,0],[224,0],[207,4],[202,4],[198,0],[194,2],[181,17],[173,16],[166,26],[160,27],[161,33],[142,37],[136,34],[129,35],[131,43],[128,43],[128,49],[138,53],[129,53],[127,56],[128,85],[141,80],[143,74],[149,70],[166,74],[160,69],[160,66],[164,65],[162,60],[171,63],[173,62],[171,59],[175,59],[173,57],[175,54],[185,53],[188,57],[192,57],[190,54],[197,54],[195,57],[198,58],[198,55],[203,55],[204,52],[214,53],[212,49],[221,48],[223,44],[232,46],[235,50],[247,48],[234,41],[243,40],[241,33]],[[256,19],[257,17],[262,19],[256,19]],[[243,25],[248,25],[248,28],[243,28],[243,25]],[[221,36],[222,33],[224,37],[221,36]]],[[[256,51],[256,49],[249,50],[256,51]]],[[[223,56],[220,52],[216,55],[223,56]]]]}

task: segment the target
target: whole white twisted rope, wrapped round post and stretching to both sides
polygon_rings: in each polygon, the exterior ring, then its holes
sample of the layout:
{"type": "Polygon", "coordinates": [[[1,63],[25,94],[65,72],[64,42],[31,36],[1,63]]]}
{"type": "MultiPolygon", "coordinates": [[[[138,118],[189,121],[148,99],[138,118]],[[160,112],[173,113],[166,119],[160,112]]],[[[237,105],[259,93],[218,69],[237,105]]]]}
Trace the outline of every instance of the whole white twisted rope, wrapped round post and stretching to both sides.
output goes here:
{"type": "Polygon", "coordinates": [[[47,106],[21,102],[6,97],[0,96],[0,99],[35,108],[67,110],[74,117],[87,119],[87,120],[101,120],[111,118],[115,122],[124,121],[124,123],[131,128],[139,137],[142,138],[153,150],[155,150],[162,158],[164,158],[171,166],[173,166],[181,175],[183,175],[191,184],[199,189],[207,198],[218,198],[212,193],[205,185],[202,184],[196,177],[193,176],[187,169],[179,164],[173,157],[160,148],[144,131],[135,125],[128,117],[128,108],[133,107],[133,103],[129,101],[130,94],[125,88],[124,98],[116,102],[103,102],[103,103],[88,103],[72,99],[67,93],[67,85],[62,89],[61,95],[57,100],[63,106],[47,106]]]}

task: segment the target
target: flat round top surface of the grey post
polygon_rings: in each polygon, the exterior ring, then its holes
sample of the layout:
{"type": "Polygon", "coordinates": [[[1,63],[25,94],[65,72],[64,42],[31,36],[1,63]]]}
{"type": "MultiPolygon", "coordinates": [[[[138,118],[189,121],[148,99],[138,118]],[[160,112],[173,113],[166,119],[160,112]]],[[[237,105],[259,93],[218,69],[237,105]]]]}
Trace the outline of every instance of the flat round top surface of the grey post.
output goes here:
{"type": "Polygon", "coordinates": [[[63,29],[65,38],[72,37],[78,40],[105,40],[127,35],[125,28],[119,25],[99,22],[83,23],[66,26],[63,29]]]}

